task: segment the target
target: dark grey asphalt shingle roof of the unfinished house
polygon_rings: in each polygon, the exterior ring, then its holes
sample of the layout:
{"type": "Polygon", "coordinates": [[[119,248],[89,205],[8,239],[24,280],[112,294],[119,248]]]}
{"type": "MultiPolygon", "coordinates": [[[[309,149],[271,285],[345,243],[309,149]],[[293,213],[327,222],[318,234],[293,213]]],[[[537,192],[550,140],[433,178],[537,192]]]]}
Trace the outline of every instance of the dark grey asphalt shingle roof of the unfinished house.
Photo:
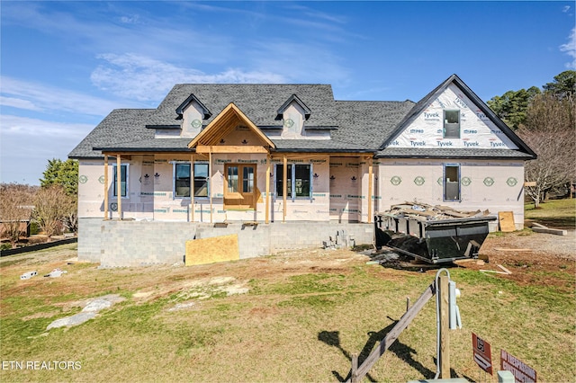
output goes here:
{"type": "Polygon", "coordinates": [[[457,76],[450,76],[419,102],[335,101],[330,85],[267,84],[179,84],[166,94],[157,109],[118,109],[112,111],[72,152],[70,158],[102,158],[102,150],[126,152],[191,152],[192,138],[154,138],[155,128],[174,129],[180,116],[176,109],[186,100],[196,99],[211,112],[205,126],[230,102],[257,127],[281,129],[278,110],[298,97],[310,111],[305,121],[308,129],[330,130],[330,139],[272,138],[279,152],[358,152],[382,157],[460,157],[460,158],[534,158],[530,150],[490,111],[457,76]],[[421,110],[447,85],[455,82],[464,92],[480,102],[479,107],[512,138],[519,150],[502,149],[417,149],[386,147],[387,143],[414,120],[421,110]],[[193,95],[193,96],[192,96],[193,95]],[[147,128],[148,127],[148,128],[147,128]]]}

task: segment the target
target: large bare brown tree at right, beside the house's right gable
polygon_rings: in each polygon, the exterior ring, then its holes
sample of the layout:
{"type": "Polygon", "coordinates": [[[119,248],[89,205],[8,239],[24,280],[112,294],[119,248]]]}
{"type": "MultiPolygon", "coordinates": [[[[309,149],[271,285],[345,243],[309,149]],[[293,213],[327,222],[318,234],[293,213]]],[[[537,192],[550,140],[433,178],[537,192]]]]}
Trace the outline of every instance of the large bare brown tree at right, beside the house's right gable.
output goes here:
{"type": "Polygon", "coordinates": [[[536,186],[526,188],[536,207],[545,200],[548,191],[576,179],[574,114],[572,95],[559,98],[540,94],[528,108],[526,126],[517,131],[538,155],[525,167],[527,182],[536,182],[536,186]]]}

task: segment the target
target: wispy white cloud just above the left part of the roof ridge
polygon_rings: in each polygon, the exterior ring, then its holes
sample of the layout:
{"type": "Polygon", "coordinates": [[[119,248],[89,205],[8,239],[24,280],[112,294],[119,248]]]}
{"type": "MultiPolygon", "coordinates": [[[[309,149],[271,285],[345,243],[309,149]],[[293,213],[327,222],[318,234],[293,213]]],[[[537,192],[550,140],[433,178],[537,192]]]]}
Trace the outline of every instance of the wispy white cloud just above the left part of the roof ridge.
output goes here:
{"type": "Polygon", "coordinates": [[[161,100],[175,84],[182,83],[283,83],[284,76],[266,71],[229,68],[217,74],[177,67],[137,54],[98,56],[105,63],[94,69],[91,79],[100,89],[139,101],[161,100]]]}

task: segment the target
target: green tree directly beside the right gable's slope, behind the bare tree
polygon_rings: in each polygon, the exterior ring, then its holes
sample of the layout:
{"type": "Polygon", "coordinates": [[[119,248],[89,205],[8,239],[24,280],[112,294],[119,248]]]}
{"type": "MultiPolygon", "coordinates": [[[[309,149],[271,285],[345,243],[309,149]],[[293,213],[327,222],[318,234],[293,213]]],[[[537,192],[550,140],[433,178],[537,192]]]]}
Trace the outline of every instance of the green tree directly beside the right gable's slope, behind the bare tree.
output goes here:
{"type": "Polygon", "coordinates": [[[488,106],[511,129],[518,129],[526,123],[528,106],[538,94],[541,94],[541,92],[536,86],[532,86],[527,90],[508,91],[501,96],[492,97],[488,102],[488,106]]]}

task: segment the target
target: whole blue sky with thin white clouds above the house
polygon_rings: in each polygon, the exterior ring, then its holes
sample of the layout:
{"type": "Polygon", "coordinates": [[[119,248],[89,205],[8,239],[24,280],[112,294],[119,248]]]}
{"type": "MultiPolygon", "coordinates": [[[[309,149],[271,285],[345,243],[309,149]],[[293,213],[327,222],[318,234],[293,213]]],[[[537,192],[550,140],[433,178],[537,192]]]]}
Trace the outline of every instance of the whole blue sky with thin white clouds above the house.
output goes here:
{"type": "Polygon", "coordinates": [[[38,184],[116,108],[179,83],[330,84],[419,101],[457,74],[482,100],[576,68],[574,2],[0,2],[3,183],[38,184]]]}

